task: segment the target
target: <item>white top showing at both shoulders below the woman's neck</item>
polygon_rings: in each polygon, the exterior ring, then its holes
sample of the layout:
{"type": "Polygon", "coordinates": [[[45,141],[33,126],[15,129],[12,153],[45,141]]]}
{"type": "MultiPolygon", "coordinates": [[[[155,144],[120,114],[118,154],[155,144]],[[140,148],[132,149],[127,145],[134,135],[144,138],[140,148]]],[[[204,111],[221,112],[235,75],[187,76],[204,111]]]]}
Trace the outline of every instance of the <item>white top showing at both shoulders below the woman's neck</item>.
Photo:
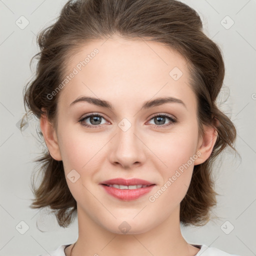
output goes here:
{"type": "MultiPolygon", "coordinates": [[[[61,244],[59,245],[55,250],[49,251],[48,253],[43,253],[38,256],[66,256],[64,252],[64,248],[69,246],[70,244],[61,244]]],[[[193,246],[200,248],[200,250],[196,253],[194,256],[239,256],[236,254],[229,254],[223,250],[214,248],[214,247],[208,247],[205,244],[202,245],[195,245],[193,246]]]]}

